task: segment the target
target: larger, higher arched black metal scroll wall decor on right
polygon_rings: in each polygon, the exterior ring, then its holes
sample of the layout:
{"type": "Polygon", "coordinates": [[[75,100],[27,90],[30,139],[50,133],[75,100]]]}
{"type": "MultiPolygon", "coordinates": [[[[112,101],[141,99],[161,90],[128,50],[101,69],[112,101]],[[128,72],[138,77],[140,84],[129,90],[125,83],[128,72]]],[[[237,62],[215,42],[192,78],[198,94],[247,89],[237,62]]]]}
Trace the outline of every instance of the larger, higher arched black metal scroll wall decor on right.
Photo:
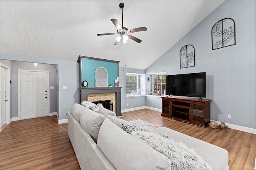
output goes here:
{"type": "Polygon", "coordinates": [[[212,50],[236,44],[235,22],[224,18],[212,27],[212,50]]]}

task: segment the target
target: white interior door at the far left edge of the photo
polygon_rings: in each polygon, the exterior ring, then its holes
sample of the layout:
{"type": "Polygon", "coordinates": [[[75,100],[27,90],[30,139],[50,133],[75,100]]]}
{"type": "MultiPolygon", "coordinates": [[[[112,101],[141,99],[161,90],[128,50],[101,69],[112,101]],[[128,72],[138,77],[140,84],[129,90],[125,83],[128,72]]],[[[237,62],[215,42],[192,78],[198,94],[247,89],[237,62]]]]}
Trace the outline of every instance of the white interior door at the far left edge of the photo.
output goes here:
{"type": "Polygon", "coordinates": [[[1,66],[1,127],[6,124],[6,68],[1,66]]]}

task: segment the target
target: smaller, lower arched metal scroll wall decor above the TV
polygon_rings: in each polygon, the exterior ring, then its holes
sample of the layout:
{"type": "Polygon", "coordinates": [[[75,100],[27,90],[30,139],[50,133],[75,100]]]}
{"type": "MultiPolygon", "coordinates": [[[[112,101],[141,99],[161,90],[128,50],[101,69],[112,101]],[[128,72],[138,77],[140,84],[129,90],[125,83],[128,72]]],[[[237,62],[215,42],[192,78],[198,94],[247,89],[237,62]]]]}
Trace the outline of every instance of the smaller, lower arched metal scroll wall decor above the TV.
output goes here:
{"type": "Polygon", "coordinates": [[[180,68],[195,66],[195,49],[193,45],[185,45],[180,50],[180,68]]]}

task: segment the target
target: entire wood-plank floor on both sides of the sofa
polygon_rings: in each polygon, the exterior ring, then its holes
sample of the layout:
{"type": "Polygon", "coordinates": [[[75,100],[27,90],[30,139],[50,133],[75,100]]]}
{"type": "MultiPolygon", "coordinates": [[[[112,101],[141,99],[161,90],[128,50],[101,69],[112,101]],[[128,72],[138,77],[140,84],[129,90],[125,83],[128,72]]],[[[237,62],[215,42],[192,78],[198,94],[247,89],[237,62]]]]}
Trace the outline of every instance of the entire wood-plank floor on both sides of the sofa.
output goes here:
{"type": "MultiPolygon", "coordinates": [[[[254,169],[255,134],[182,123],[149,109],[122,113],[122,116],[127,121],[142,119],[222,147],[229,152],[230,170],[254,169]]],[[[56,116],[13,121],[0,133],[0,169],[79,170],[68,138],[68,124],[59,125],[56,116]]]]}

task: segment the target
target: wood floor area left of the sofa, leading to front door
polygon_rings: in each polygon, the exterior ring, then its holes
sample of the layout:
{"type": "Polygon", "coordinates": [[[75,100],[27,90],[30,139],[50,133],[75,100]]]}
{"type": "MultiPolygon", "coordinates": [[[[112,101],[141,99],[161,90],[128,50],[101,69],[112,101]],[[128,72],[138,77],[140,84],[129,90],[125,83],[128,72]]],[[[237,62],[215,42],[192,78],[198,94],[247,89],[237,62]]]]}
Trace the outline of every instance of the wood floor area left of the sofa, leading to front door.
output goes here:
{"type": "Polygon", "coordinates": [[[0,133],[1,170],[80,170],[68,124],[56,116],[13,121],[0,133]]]}

